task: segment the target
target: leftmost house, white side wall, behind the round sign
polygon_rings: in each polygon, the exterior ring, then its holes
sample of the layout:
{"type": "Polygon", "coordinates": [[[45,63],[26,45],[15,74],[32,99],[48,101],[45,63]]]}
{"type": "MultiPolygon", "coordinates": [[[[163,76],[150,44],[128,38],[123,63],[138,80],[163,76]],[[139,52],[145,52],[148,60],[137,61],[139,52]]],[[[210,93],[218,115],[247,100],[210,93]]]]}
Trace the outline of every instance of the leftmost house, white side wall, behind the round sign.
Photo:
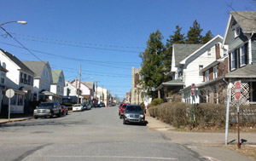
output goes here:
{"type": "MultiPolygon", "coordinates": [[[[6,89],[14,89],[15,96],[11,98],[11,112],[24,113],[32,112],[30,102],[33,101],[33,79],[35,73],[23,64],[15,55],[0,49],[1,66],[7,69],[6,89]]],[[[8,105],[9,101],[3,96],[3,104],[8,105]]]]}

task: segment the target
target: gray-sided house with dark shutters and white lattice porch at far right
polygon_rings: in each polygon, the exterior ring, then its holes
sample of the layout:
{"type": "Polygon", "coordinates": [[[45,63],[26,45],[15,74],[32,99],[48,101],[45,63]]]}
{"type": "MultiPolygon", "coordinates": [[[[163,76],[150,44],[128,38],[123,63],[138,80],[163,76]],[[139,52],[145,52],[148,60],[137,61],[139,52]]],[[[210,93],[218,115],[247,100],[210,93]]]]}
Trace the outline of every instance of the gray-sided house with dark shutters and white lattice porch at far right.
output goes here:
{"type": "Polygon", "coordinates": [[[232,11],[224,35],[228,50],[231,105],[235,105],[233,83],[241,80],[241,104],[256,103],[256,11],[232,11]]]}

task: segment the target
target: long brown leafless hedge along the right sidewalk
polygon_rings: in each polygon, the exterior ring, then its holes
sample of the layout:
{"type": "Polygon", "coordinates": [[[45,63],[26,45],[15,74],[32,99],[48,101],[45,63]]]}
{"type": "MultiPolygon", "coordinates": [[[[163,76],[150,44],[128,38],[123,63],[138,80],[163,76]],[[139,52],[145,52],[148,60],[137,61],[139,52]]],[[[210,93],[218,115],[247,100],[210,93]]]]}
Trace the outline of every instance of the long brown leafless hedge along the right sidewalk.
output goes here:
{"type": "MultiPolygon", "coordinates": [[[[191,104],[181,102],[167,102],[157,107],[148,109],[151,117],[180,126],[189,126],[191,123],[191,104]]],[[[193,107],[193,127],[224,128],[226,120],[226,106],[220,104],[202,103],[193,107]]],[[[230,106],[230,126],[236,126],[237,112],[236,106],[230,106]]],[[[256,106],[240,106],[241,126],[253,127],[256,124],[256,106]]]]}

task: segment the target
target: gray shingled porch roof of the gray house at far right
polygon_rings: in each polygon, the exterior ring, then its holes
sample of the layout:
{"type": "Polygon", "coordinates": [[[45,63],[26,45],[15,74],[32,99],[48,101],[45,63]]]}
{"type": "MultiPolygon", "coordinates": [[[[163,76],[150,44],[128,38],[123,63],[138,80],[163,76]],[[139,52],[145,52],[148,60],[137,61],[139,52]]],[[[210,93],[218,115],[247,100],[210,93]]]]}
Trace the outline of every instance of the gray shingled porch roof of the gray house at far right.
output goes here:
{"type": "Polygon", "coordinates": [[[236,69],[236,71],[229,72],[225,78],[256,78],[256,65],[247,65],[236,69]]]}

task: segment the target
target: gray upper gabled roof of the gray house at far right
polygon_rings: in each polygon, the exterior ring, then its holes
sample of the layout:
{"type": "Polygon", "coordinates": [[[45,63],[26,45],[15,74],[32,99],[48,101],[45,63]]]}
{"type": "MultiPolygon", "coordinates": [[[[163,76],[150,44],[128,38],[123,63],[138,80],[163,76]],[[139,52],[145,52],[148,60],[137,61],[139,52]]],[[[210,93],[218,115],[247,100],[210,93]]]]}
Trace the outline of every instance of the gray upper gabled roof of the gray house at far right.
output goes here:
{"type": "Polygon", "coordinates": [[[244,33],[256,33],[256,11],[231,11],[244,33]]]}

